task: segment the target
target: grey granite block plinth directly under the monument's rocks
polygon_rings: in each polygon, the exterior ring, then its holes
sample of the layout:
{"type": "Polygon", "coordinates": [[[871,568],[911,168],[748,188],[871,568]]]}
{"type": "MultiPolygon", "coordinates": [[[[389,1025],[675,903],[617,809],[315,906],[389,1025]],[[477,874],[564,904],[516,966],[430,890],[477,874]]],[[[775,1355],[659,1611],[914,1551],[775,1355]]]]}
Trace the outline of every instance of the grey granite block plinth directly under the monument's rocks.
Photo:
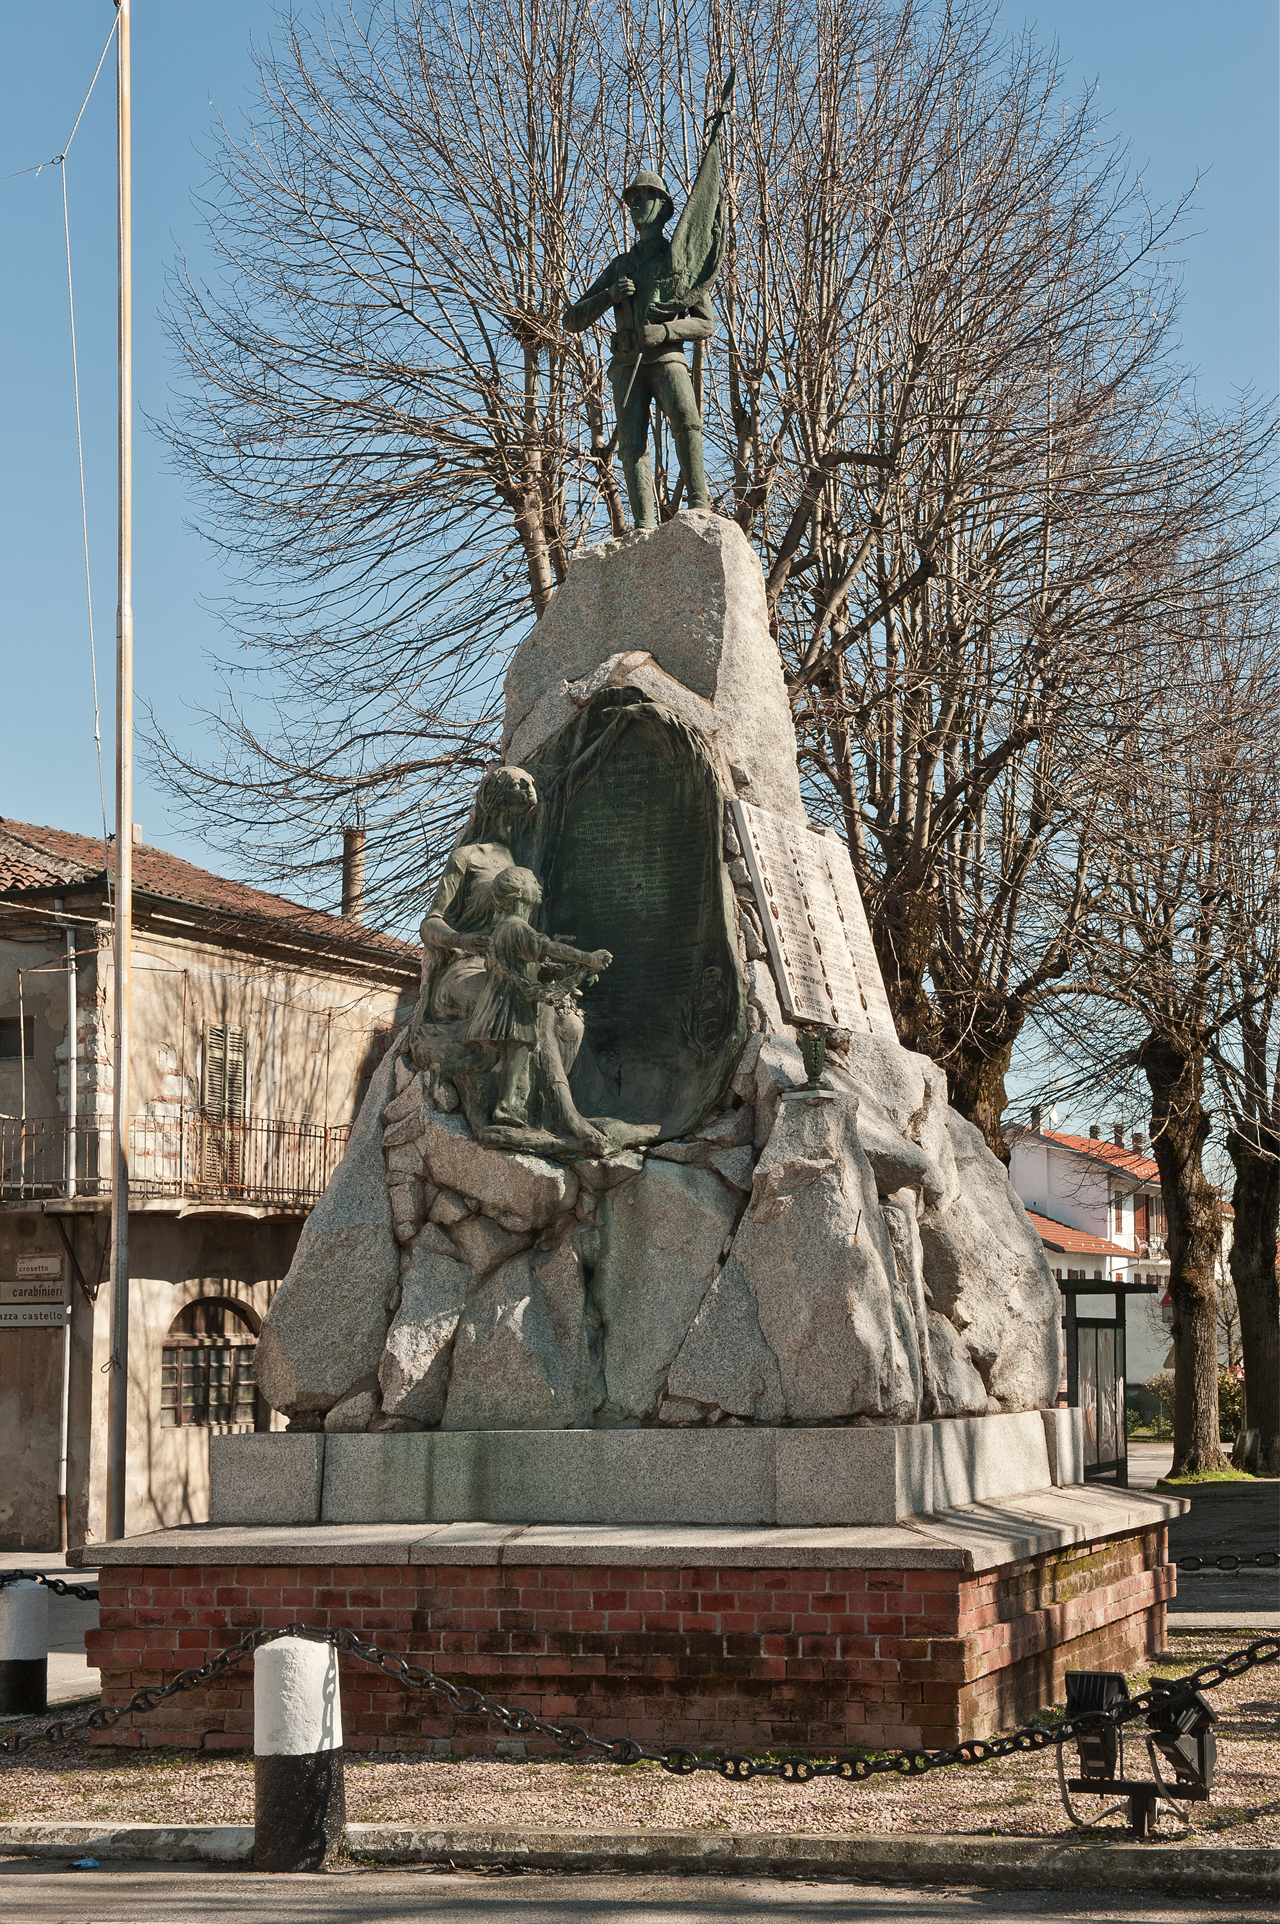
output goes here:
{"type": "Polygon", "coordinates": [[[214,1524],[893,1524],[1082,1476],[1080,1412],[210,1439],[214,1524]]]}

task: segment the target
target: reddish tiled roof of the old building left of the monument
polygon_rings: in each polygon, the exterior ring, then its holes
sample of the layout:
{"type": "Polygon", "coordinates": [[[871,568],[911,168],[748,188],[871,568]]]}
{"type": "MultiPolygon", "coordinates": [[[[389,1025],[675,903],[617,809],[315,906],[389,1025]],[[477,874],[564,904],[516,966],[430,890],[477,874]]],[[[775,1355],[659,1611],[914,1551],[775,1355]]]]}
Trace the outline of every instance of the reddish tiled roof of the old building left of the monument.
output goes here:
{"type": "MultiPolygon", "coordinates": [[[[69,829],[38,827],[31,822],[12,822],[0,816],[0,895],[52,891],[64,887],[106,887],[106,868],[115,872],[115,847],[108,845],[102,860],[102,837],[75,835],[69,829]]],[[[325,941],[343,949],[381,949],[387,958],[416,964],[418,949],[397,935],[383,935],[343,916],[327,916],[283,895],[250,889],[244,881],[229,881],[206,868],[194,868],[166,848],[148,843],[133,845],[133,893],[158,900],[185,902],[212,910],[237,924],[269,924],[277,933],[285,927],[310,941],[325,941]]]]}

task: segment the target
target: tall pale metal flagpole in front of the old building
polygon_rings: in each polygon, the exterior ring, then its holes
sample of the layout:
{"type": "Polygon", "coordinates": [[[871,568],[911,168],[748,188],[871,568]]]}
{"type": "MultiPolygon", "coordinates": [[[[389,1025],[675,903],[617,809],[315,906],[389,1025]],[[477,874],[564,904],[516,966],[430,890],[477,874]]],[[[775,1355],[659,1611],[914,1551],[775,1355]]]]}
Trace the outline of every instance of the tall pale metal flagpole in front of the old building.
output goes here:
{"type": "Polygon", "coordinates": [[[129,1449],[129,962],[133,943],[133,306],[129,0],[115,0],[119,206],[119,600],[115,610],[115,1076],[112,1102],[112,1353],[106,1406],[106,1535],[125,1533],[129,1449]]]}

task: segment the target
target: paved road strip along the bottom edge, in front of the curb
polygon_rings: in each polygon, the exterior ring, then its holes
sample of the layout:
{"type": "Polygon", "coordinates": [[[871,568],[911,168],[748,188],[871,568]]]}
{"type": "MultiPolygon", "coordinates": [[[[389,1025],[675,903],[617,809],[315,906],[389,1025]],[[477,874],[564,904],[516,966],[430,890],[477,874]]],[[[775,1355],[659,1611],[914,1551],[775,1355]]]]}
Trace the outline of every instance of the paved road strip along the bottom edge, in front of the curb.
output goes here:
{"type": "Polygon", "coordinates": [[[69,1872],[0,1861],[0,1916],[23,1924],[1203,1924],[1274,1916],[1261,1899],[1138,1891],[907,1889],[737,1878],[475,1876],[437,1870],[268,1878],[252,1870],[69,1872]]]}

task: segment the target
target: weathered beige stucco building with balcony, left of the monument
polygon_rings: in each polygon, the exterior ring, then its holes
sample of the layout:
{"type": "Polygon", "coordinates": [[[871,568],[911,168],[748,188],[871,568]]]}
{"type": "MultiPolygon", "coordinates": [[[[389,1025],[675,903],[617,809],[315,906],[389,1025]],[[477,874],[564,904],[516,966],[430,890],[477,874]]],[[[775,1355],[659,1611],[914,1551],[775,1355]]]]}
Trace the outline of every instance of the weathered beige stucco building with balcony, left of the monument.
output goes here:
{"type": "MultiPolygon", "coordinates": [[[[137,831],[135,831],[137,837],[137,831]]],[[[262,1316],[406,1020],[420,950],[135,839],[127,1532],[208,1514],[279,1418],[262,1316]]],[[[114,848],[0,820],[0,1545],[102,1537],[114,848]],[[60,1476],[60,1462],[65,1466],[60,1476]]]]}

